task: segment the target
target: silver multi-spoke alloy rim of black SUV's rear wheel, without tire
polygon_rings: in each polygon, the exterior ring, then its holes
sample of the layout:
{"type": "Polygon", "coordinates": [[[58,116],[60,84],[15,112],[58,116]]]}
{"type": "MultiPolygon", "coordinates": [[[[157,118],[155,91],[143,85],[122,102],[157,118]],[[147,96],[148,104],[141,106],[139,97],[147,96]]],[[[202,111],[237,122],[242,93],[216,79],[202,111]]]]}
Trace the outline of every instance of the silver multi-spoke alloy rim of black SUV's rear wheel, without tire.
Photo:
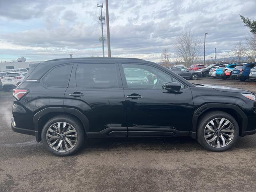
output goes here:
{"type": "Polygon", "coordinates": [[[56,122],[48,128],[46,140],[52,149],[58,152],[66,152],[76,145],[77,132],[67,122],[56,122]]]}

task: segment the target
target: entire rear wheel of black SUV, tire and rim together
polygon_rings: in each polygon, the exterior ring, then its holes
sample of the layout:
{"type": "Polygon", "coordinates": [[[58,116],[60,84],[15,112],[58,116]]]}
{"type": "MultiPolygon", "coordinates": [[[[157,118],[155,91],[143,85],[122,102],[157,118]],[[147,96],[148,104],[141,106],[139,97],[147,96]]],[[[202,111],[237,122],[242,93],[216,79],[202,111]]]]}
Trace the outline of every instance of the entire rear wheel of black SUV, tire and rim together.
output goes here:
{"type": "Polygon", "coordinates": [[[85,133],[80,121],[72,116],[61,115],[46,122],[41,136],[44,146],[48,151],[58,156],[69,156],[81,148],[84,143],[85,133]],[[60,127],[60,134],[58,134],[58,126],[60,127]],[[66,134],[62,133],[63,127],[66,134]],[[52,132],[52,130],[54,131],[52,132]],[[53,145],[50,146],[50,144],[53,145]]]}

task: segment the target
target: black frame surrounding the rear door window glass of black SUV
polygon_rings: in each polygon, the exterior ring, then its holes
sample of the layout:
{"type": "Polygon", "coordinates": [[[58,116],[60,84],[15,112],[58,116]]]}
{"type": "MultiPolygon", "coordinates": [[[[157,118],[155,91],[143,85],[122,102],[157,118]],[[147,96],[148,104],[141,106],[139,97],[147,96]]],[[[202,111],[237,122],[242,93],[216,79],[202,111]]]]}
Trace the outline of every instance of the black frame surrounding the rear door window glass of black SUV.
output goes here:
{"type": "Polygon", "coordinates": [[[70,87],[70,88],[80,88],[80,89],[123,89],[118,63],[117,62],[92,62],[92,61],[75,63],[74,67],[73,67],[73,70],[72,70],[72,73],[71,73],[70,84],[68,85],[68,87],[70,87]],[[118,79],[118,88],[80,87],[80,86],[77,86],[77,84],[76,84],[76,70],[77,70],[79,64],[115,64],[116,74],[117,74],[117,79],[118,79]]]}

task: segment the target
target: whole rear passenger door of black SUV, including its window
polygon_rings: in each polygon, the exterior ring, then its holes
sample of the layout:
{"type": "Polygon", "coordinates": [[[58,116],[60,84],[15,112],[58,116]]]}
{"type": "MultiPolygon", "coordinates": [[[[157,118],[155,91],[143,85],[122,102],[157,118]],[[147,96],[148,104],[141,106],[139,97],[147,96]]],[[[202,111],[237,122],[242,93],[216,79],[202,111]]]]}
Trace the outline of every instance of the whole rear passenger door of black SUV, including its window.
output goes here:
{"type": "Polygon", "coordinates": [[[87,136],[127,136],[124,91],[118,64],[74,64],[64,111],[75,108],[88,119],[87,136]],[[100,133],[99,133],[100,132],[100,133]]]}

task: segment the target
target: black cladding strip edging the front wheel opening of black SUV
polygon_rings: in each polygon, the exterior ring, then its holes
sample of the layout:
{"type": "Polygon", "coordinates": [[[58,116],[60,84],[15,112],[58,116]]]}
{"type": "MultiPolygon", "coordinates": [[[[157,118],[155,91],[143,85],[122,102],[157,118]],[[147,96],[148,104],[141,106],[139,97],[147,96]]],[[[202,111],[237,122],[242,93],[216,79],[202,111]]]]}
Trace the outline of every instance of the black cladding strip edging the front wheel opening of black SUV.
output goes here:
{"type": "Polygon", "coordinates": [[[209,103],[209,104],[204,104],[202,105],[200,108],[198,108],[197,110],[194,111],[194,115],[192,118],[192,132],[190,133],[190,136],[192,138],[196,138],[196,131],[197,131],[197,122],[198,122],[198,118],[200,117],[201,114],[203,114],[204,112],[206,112],[206,110],[209,109],[232,109],[234,111],[236,111],[243,119],[242,122],[242,128],[241,130],[244,131],[246,130],[247,127],[247,123],[248,123],[248,118],[246,116],[246,114],[244,114],[244,112],[236,105],[233,104],[223,104],[223,103],[209,103]]]}

